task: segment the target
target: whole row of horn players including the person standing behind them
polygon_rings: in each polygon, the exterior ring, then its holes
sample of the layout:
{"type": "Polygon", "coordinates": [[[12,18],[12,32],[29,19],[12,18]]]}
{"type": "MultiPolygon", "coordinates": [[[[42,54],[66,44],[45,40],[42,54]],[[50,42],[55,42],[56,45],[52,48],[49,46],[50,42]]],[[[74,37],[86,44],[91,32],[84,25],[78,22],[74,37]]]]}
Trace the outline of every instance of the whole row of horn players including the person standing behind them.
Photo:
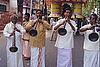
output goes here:
{"type": "MultiPolygon", "coordinates": [[[[6,37],[7,45],[7,67],[24,67],[23,57],[30,60],[30,67],[45,67],[45,40],[46,30],[59,31],[55,47],[57,47],[57,67],[72,66],[72,49],[74,48],[74,35],[77,32],[77,24],[71,19],[72,9],[67,7],[62,12],[62,18],[53,26],[42,19],[43,12],[36,11],[36,19],[30,20],[30,14],[25,13],[24,21],[18,22],[18,15],[11,16],[11,22],[6,24],[3,34],[6,37]],[[60,32],[60,29],[64,28],[60,32]],[[18,50],[15,51],[17,47],[18,50]],[[14,50],[14,51],[13,51],[14,50]]],[[[99,32],[96,30],[98,16],[90,15],[90,22],[80,28],[80,34],[84,34],[84,62],[83,67],[99,66],[99,39],[89,40],[91,33],[99,32]],[[93,32],[95,29],[95,32],[93,32]]]]}

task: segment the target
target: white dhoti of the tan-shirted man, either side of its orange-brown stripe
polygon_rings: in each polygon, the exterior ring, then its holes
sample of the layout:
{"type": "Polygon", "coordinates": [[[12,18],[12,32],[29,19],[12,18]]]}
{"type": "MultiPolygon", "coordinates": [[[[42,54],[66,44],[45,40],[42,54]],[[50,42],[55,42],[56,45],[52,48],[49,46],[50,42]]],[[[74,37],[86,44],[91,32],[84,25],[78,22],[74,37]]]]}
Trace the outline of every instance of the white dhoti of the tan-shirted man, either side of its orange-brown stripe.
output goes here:
{"type": "MultiPolygon", "coordinates": [[[[38,55],[39,55],[39,48],[31,48],[31,66],[30,67],[37,67],[38,65],[38,55]]],[[[42,48],[41,52],[41,67],[45,67],[45,48],[42,48]]]]}

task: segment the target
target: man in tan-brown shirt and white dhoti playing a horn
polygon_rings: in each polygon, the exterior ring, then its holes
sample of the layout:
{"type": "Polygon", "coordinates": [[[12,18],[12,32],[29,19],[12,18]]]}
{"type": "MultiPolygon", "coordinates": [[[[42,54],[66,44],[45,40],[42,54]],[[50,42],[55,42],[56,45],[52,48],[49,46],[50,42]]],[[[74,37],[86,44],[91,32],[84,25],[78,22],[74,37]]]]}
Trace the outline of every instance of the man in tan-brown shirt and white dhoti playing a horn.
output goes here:
{"type": "MultiPolygon", "coordinates": [[[[42,11],[36,11],[37,19],[26,25],[25,29],[30,32],[32,28],[37,30],[36,36],[30,36],[31,65],[30,67],[45,67],[45,36],[46,30],[52,29],[47,21],[42,20],[42,11]]],[[[34,34],[34,33],[33,33],[34,34]]]]}

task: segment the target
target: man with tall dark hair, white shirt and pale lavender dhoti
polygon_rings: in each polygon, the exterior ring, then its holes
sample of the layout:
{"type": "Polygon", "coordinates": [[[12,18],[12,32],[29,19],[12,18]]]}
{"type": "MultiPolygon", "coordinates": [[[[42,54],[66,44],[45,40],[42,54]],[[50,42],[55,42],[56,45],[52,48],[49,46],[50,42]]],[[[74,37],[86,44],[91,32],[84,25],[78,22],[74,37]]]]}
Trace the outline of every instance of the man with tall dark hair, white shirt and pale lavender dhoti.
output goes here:
{"type": "MultiPolygon", "coordinates": [[[[58,20],[54,30],[64,27],[67,30],[65,35],[57,35],[55,46],[58,49],[57,67],[72,67],[72,48],[74,47],[73,34],[77,30],[75,21],[71,20],[71,7],[63,10],[62,19],[58,20]]],[[[59,33],[59,32],[58,32],[59,33]]]]}

